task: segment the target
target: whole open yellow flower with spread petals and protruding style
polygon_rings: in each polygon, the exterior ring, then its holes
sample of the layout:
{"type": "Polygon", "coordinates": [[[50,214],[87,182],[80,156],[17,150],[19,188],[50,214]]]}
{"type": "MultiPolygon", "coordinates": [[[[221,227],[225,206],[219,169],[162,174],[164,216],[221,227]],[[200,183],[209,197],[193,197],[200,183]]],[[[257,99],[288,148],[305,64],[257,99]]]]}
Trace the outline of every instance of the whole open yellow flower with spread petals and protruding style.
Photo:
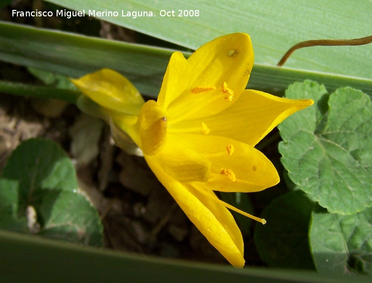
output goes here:
{"type": "Polygon", "coordinates": [[[82,97],[80,108],[106,119],[119,146],[126,148],[128,135],[142,149],[181,209],[235,267],[244,266],[243,240],[226,207],[266,221],[223,203],[214,191],[257,192],[276,185],[275,167],[254,145],[313,103],[244,90],[253,59],[243,33],[217,38],[187,60],[175,52],[156,102],[144,103],[111,70],[74,80],[89,97],[82,97]]]}

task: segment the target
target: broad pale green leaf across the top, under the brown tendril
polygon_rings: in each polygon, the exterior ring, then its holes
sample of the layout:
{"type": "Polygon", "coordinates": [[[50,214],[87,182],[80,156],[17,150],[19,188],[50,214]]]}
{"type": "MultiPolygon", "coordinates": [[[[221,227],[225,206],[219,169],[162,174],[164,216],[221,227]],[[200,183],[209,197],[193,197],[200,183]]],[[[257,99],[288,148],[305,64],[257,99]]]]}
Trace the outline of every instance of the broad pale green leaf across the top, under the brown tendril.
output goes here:
{"type": "MultiPolygon", "coordinates": [[[[371,35],[371,0],[359,0],[358,5],[350,0],[282,0],[280,4],[274,0],[49,1],[84,9],[86,15],[89,10],[117,11],[118,16],[96,17],[194,50],[224,34],[246,32],[252,38],[256,62],[271,66],[300,41],[371,35]],[[123,17],[122,10],[136,12],[137,17],[123,17]],[[161,16],[161,10],[174,14],[161,16]],[[198,10],[199,16],[185,16],[184,10],[198,10]],[[144,16],[144,11],[155,16],[144,16]]],[[[287,66],[371,78],[371,52],[372,45],[305,48],[296,51],[287,66]]]]}

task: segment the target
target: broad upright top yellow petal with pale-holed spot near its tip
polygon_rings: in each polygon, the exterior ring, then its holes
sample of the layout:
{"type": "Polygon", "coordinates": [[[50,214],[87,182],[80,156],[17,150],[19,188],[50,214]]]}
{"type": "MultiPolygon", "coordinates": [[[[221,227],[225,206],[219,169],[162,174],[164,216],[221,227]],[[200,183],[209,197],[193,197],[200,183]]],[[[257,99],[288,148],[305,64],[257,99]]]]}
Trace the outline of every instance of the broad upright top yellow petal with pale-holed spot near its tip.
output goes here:
{"type": "Polygon", "coordinates": [[[206,117],[230,107],[247,84],[253,60],[252,44],[244,33],[225,35],[200,47],[187,60],[192,75],[184,92],[168,106],[169,122],[206,117]]]}

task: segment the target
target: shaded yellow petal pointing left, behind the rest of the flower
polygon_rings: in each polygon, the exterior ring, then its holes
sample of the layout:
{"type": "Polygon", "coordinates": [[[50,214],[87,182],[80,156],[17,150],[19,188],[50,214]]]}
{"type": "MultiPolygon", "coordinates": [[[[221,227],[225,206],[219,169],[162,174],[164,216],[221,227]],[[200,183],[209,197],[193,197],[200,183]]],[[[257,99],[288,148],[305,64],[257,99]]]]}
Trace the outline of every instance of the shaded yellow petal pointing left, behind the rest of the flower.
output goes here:
{"type": "Polygon", "coordinates": [[[103,108],[138,115],[145,103],[136,87],[120,73],[102,69],[72,82],[86,96],[103,108]]]}

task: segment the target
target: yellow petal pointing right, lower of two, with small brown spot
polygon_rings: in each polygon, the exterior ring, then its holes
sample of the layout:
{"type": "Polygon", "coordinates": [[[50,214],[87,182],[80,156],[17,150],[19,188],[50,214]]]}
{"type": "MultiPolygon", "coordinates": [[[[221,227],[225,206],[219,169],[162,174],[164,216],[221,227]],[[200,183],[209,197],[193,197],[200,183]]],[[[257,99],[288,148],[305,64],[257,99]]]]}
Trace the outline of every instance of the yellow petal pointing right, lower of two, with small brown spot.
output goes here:
{"type": "MultiPolygon", "coordinates": [[[[240,141],[224,137],[181,134],[189,147],[208,158],[211,175],[203,188],[222,192],[257,192],[279,183],[271,161],[259,150],[240,141]],[[233,152],[226,149],[233,146],[233,152]]],[[[193,183],[194,185],[194,183],[193,183]]]]}

